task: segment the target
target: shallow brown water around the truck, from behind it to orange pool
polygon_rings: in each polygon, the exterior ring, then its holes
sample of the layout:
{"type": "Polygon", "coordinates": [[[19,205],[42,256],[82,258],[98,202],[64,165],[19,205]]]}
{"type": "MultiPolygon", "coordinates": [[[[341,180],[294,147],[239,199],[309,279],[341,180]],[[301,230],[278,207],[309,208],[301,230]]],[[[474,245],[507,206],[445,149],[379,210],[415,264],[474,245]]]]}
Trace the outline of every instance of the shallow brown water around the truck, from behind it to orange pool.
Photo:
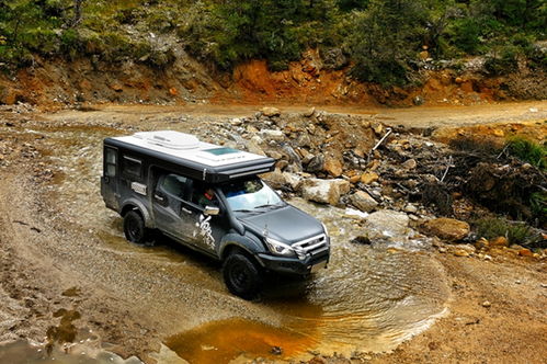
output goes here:
{"type": "MultiPolygon", "coordinates": [[[[446,310],[449,289],[445,275],[426,249],[404,249],[403,243],[396,248],[352,243],[364,232],[358,218],[300,198],[289,202],[321,219],[330,231],[328,269],[304,283],[274,281],[261,302],[244,303],[227,293],[218,264],[170,243],[147,249],[125,241],[121,218],[101,200],[99,178],[102,139],[128,132],[34,126],[21,133],[44,137],[41,152],[49,159],[48,167],[56,170],[48,186],[55,218],[71,225],[78,235],[88,235],[98,253],[123,257],[119,264],[139,266],[138,281],[124,277],[128,293],[141,295],[139,291],[150,289],[150,295],[157,295],[156,306],[192,310],[184,321],[172,318],[181,322],[180,333],[166,334],[164,340],[191,363],[257,356],[306,359],[316,351],[346,355],[389,351],[425,330],[446,310]],[[173,292],[183,285],[190,285],[192,293],[173,292]],[[201,303],[205,299],[202,296],[210,297],[205,300],[210,307],[192,302],[195,298],[201,303]]],[[[82,266],[84,260],[81,258],[82,266]]],[[[115,274],[116,264],[109,268],[115,274]]],[[[115,281],[104,275],[104,282],[109,280],[115,281]]]]}

